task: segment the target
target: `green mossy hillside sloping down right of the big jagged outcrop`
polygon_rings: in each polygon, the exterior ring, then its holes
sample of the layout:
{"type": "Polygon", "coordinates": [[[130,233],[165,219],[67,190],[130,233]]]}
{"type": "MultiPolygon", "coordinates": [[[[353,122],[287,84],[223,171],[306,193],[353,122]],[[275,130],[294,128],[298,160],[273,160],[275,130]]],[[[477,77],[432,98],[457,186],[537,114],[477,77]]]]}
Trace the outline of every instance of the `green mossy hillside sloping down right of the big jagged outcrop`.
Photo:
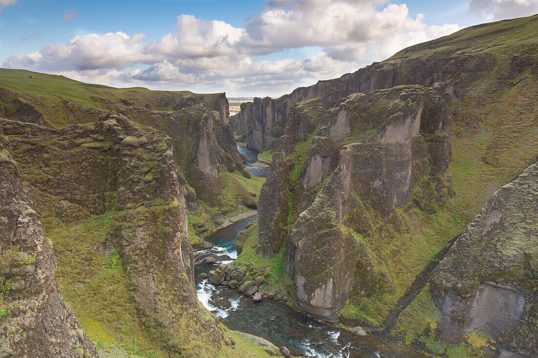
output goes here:
{"type": "MultiPolygon", "coordinates": [[[[376,270],[385,273],[391,284],[377,285],[372,295],[353,293],[340,315],[349,324],[380,325],[432,257],[464,230],[494,191],[534,163],[538,154],[538,15],[465,28],[403,49],[357,73],[321,81],[317,88],[324,88],[328,97],[342,97],[354,85],[359,87],[353,80],[370,83],[373,78],[372,83],[378,81],[377,88],[383,89],[391,76],[387,74],[395,73],[401,74],[402,84],[430,87],[445,82],[451,91],[447,180],[452,181],[455,195],[435,213],[409,202],[397,209],[391,222],[369,211],[367,221],[374,229],[356,238],[364,242],[376,270]]],[[[360,116],[353,120],[358,123],[360,116]]],[[[263,154],[272,154],[273,149],[263,154]]],[[[310,149],[296,148],[292,155],[304,159],[310,149]]],[[[414,193],[418,201],[421,196],[420,190],[414,193]]],[[[432,332],[438,313],[424,289],[392,334],[407,343],[420,341],[437,354],[475,354],[477,341],[482,342],[476,332],[459,347],[435,342],[432,332]]]]}

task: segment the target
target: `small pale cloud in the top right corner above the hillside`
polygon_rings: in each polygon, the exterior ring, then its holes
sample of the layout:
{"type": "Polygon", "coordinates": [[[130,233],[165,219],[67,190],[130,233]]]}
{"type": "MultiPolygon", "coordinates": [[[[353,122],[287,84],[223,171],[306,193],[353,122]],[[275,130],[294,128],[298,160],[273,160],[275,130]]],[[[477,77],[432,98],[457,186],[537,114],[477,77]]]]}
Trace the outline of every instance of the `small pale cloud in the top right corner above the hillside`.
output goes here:
{"type": "Polygon", "coordinates": [[[538,13],[538,0],[471,0],[469,11],[487,20],[502,20],[538,13]]]}

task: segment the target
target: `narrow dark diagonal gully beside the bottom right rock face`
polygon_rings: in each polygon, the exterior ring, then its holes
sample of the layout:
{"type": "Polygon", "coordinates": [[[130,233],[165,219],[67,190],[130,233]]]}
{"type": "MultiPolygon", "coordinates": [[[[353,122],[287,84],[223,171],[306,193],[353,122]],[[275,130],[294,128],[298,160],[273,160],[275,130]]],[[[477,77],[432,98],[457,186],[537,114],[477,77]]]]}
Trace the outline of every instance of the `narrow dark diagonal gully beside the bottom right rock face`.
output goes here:
{"type": "Polygon", "coordinates": [[[438,266],[439,262],[443,259],[445,255],[447,255],[448,250],[454,245],[454,242],[459,238],[460,235],[455,237],[454,239],[450,240],[445,247],[443,247],[440,252],[437,253],[437,255],[434,256],[434,258],[428,263],[426,268],[424,268],[420,274],[416,275],[415,281],[413,281],[413,284],[410,285],[410,287],[407,289],[407,291],[404,293],[404,296],[400,297],[397,304],[394,306],[394,308],[388,313],[387,318],[385,318],[384,323],[381,325],[383,327],[383,330],[381,330],[380,336],[385,338],[392,330],[392,326],[394,325],[394,322],[398,319],[400,316],[400,313],[404,311],[404,309],[413,302],[413,299],[422,291],[426,283],[430,280],[430,276],[433,273],[433,270],[438,266]]]}

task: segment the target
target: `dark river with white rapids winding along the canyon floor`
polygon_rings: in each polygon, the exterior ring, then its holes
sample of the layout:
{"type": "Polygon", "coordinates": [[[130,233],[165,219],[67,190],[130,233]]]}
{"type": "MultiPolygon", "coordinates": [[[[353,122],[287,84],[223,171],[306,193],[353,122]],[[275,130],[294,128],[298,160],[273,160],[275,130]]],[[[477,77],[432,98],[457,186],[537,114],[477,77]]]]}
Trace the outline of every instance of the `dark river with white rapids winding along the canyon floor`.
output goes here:
{"type": "MultiPolygon", "coordinates": [[[[249,158],[249,162],[256,160],[256,152],[241,148],[241,153],[249,158]]],[[[206,240],[214,246],[195,252],[195,276],[236,259],[237,234],[245,230],[245,226],[253,220],[256,220],[256,216],[238,220],[207,237],[206,240]],[[207,264],[204,260],[208,256],[214,256],[219,261],[207,264]]],[[[361,337],[343,328],[319,323],[272,299],[264,298],[254,302],[236,289],[213,285],[207,279],[196,278],[196,291],[204,307],[232,330],[263,337],[276,346],[288,347],[296,355],[331,358],[424,357],[392,342],[361,337]]]]}

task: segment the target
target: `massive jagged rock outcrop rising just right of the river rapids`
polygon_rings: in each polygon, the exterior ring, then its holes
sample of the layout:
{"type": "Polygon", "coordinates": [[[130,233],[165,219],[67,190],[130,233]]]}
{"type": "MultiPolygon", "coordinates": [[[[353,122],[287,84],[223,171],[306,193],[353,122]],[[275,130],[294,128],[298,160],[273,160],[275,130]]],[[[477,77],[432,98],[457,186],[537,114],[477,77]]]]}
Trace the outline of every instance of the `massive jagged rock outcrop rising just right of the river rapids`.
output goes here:
{"type": "Polygon", "coordinates": [[[386,224],[372,228],[367,218],[374,214],[395,225],[395,207],[412,201],[435,212],[448,198],[450,184],[440,176],[450,158],[445,132],[451,97],[406,86],[369,98],[351,95],[328,111],[321,99],[312,101],[292,106],[286,134],[274,146],[279,152],[258,203],[258,243],[273,257],[285,241],[285,271],[295,282],[297,305],[336,320],[351,291],[367,295],[374,281],[391,285],[383,273],[376,276],[372,257],[357,239],[357,233],[384,230],[386,224]],[[372,126],[375,134],[365,135],[372,126]],[[295,145],[314,131],[307,152],[299,153],[295,145]],[[415,188],[431,186],[423,182],[435,183],[436,190],[415,199],[415,188]]]}

